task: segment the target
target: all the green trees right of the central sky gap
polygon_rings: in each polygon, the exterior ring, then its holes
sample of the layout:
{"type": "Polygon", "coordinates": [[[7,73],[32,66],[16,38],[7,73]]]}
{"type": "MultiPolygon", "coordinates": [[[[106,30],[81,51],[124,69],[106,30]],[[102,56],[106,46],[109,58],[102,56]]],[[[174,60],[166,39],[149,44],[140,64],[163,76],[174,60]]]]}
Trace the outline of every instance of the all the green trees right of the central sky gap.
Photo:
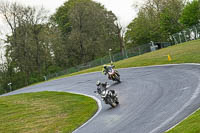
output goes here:
{"type": "Polygon", "coordinates": [[[200,22],[200,1],[147,0],[128,25],[128,47],[150,41],[169,42],[169,36],[200,22]]]}

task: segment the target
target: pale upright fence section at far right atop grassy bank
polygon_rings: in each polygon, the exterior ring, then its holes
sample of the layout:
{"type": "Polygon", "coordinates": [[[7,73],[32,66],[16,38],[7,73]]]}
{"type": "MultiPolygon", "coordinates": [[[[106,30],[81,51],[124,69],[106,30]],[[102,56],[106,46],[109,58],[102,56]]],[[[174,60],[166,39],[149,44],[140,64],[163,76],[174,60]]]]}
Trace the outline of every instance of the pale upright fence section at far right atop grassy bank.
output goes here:
{"type": "Polygon", "coordinates": [[[173,34],[170,39],[174,44],[200,39],[200,23],[173,34]]]}

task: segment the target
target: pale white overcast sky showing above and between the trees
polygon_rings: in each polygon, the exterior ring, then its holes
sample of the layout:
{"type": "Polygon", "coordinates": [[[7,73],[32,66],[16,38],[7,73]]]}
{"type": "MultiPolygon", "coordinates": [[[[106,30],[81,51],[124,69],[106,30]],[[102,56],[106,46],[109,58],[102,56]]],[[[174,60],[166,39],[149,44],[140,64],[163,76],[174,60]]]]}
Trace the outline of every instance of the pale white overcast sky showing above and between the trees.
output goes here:
{"type": "MultiPolygon", "coordinates": [[[[10,2],[19,2],[24,5],[41,7],[49,10],[50,14],[54,13],[56,9],[67,0],[3,0],[10,2]]],[[[121,25],[126,27],[136,16],[137,12],[134,10],[135,4],[141,4],[144,0],[94,0],[101,3],[111,10],[119,19],[121,25]]],[[[0,19],[0,21],[2,21],[0,19]]],[[[1,23],[1,22],[0,22],[1,23]]]]}

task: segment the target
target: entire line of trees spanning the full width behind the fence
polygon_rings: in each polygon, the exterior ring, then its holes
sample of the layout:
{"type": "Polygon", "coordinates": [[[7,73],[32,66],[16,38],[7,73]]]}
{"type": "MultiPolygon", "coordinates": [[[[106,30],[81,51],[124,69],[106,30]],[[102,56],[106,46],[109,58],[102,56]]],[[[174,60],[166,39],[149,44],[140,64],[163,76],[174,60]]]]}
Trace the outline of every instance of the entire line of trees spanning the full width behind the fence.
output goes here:
{"type": "Polygon", "coordinates": [[[110,48],[123,55],[125,45],[168,41],[169,35],[199,22],[199,3],[147,0],[124,34],[115,14],[92,0],[68,0],[53,15],[44,8],[0,2],[0,16],[11,31],[0,57],[0,93],[10,91],[8,83],[15,90],[42,81],[105,56],[110,48]]]}

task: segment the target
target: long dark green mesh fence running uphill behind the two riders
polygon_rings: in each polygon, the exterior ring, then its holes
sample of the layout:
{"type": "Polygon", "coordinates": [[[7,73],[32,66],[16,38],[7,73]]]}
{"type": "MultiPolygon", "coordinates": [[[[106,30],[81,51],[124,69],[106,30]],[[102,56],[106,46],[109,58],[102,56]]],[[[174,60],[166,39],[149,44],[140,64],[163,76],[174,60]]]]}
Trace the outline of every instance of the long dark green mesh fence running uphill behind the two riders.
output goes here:
{"type": "MultiPolygon", "coordinates": [[[[168,46],[171,45],[168,42],[154,43],[154,44],[156,46],[155,49],[161,49],[161,48],[168,47],[168,46]]],[[[126,59],[126,58],[130,58],[130,57],[133,57],[133,56],[138,56],[138,55],[141,55],[141,54],[144,54],[144,53],[147,53],[147,52],[151,52],[151,51],[154,51],[152,49],[152,45],[153,45],[152,43],[148,43],[148,44],[145,44],[145,45],[140,45],[140,46],[137,46],[137,47],[134,47],[134,48],[130,48],[128,50],[125,50],[124,54],[122,54],[122,53],[112,54],[112,53],[109,53],[109,51],[108,51],[108,56],[90,61],[86,64],[78,65],[76,67],[71,67],[71,68],[65,69],[65,70],[57,72],[57,73],[49,74],[47,76],[44,76],[44,79],[49,80],[49,79],[52,79],[52,78],[55,78],[55,77],[58,77],[58,76],[71,74],[71,73],[74,73],[74,72],[78,72],[78,71],[81,71],[81,70],[84,70],[84,69],[96,67],[96,66],[103,65],[103,64],[108,64],[108,63],[111,62],[111,60],[113,62],[116,62],[116,61],[120,61],[120,60],[123,60],[123,59],[126,59]]]]}

